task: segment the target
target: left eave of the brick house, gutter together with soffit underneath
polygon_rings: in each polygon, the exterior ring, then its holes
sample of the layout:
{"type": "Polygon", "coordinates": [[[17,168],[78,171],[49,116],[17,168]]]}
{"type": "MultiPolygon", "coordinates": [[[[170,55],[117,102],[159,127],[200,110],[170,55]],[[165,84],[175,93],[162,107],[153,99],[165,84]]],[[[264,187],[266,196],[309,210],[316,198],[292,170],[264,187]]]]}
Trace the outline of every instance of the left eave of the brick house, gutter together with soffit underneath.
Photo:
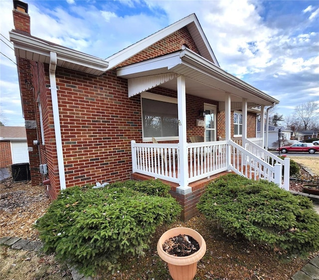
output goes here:
{"type": "Polygon", "coordinates": [[[102,75],[109,66],[105,59],[31,36],[26,32],[11,30],[9,36],[18,57],[49,64],[52,51],[57,54],[57,66],[92,75],[102,75]]]}

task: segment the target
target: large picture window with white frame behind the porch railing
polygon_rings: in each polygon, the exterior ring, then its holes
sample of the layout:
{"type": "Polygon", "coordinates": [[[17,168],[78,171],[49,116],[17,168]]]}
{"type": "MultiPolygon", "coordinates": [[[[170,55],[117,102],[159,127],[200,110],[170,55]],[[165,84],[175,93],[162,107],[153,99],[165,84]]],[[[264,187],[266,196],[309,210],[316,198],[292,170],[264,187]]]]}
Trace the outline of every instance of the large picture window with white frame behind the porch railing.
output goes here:
{"type": "Polygon", "coordinates": [[[173,140],[178,137],[177,100],[151,93],[143,93],[143,140],[173,140]]]}

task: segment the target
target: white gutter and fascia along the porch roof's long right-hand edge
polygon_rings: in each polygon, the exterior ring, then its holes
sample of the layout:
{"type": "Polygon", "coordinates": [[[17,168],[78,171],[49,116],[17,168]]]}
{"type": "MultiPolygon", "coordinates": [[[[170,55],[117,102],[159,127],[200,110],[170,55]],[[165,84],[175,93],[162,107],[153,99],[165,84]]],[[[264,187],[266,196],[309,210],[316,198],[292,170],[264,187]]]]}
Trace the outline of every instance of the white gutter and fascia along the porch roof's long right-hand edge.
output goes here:
{"type": "Polygon", "coordinates": [[[180,51],[180,58],[183,62],[186,62],[185,65],[187,65],[188,63],[190,65],[194,65],[199,71],[202,71],[203,73],[212,73],[214,76],[220,78],[224,82],[228,82],[229,84],[241,88],[242,90],[249,92],[250,94],[261,97],[262,99],[267,100],[269,102],[275,102],[276,104],[279,103],[277,99],[251,86],[250,84],[242,81],[241,79],[238,79],[237,77],[227,73],[226,71],[216,66],[209,60],[199,56],[197,53],[189,49],[184,49],[180,51]]]}

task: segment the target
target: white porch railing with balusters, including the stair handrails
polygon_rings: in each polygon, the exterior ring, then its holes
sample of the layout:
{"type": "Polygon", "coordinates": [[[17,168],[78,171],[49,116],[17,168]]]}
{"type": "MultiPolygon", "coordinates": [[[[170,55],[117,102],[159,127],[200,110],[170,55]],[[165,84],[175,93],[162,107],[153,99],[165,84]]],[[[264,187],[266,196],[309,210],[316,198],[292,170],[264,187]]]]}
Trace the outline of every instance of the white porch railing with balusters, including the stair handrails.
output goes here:
{"type": "MultiPolygon", "coordinates": [[[[289,159],[282,160],[249,140],[246,143],[249,151],[232,140],[187,143],[187,183],[209,178],[230,169],[250,179],[263,178],[275,182],[289,190],[289,168],[285,168],[284,183],[281,176],[282,165],[289,167],[289,159]],[[230,162],[227,162],[226,156],[228,148],[231,149],[230,162]]],[[[131,146],[133,172],[170,182],[180,182],[178,144],[136,143],[132,140],[131,146]]]]}

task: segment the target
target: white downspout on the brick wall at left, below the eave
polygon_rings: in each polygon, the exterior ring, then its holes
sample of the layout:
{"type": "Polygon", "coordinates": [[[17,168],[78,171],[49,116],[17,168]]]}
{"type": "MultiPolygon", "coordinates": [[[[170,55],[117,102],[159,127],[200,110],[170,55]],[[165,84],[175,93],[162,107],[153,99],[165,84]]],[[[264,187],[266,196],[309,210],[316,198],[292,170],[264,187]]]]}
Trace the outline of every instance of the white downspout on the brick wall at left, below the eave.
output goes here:
{"type": "Polygon", "coordinates": [[[60,189],[65,190],[66,183],[65,183],[65,173],[64,173],[62,137],[61,137],[58,95],[57,95],[56,78],[55,78],[56,63],[57,63],[56,52],[50,51],[49,78],[50,78],[50,90],[51,90],[52,108],[53,108],[56,153],[58,158],[60,189]]]}

